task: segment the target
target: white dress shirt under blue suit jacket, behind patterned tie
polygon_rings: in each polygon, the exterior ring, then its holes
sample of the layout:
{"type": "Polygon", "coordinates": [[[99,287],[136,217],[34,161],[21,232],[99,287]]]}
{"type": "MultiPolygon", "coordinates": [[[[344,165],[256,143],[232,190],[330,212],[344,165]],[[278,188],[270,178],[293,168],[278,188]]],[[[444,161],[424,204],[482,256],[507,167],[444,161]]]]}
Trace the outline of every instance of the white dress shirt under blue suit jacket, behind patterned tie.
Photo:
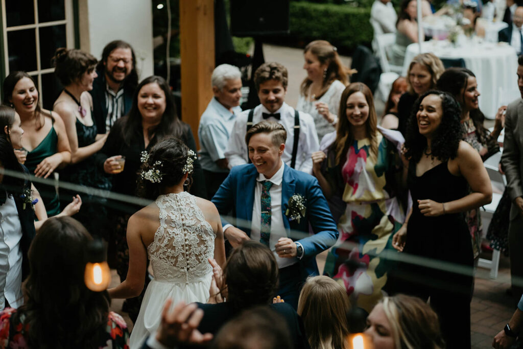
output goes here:
{"type": "Polygon", "coordinates": [[[280,238],[288,238],[287,231],[283,225],[283,214],[281,212],[281,182],[283,181],[283,163],[278,171],[269,179],[261,173],[256,178],[256,187],[254,189],[254,202],[253,202],[253,219],[251,221],[251,239],[254,241],[260,241],[260,226],[261,226],[261,187],[263,181],[269,181],[272,186],[269,189],[270,193],[270,238],[269,248],[276,257],[276,262],[279,268],[285,268],[289,265],[298,262],[298,258],[281,258],[276,253],[275,245],[280,238]]]}

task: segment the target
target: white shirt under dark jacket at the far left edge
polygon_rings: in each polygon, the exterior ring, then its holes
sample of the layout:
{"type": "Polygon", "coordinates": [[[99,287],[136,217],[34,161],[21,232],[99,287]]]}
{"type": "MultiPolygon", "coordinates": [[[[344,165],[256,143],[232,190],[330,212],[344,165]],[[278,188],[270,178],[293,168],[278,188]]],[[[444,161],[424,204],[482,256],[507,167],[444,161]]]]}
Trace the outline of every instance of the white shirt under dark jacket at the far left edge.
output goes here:
{"type": "Polygon", "coordinates": [[[12,308],[24,303],[21,238],[22,227],[15,200],[7,196],[5,204],[0,206],[0,309],[5,308],[6,299],[12,308]]]}

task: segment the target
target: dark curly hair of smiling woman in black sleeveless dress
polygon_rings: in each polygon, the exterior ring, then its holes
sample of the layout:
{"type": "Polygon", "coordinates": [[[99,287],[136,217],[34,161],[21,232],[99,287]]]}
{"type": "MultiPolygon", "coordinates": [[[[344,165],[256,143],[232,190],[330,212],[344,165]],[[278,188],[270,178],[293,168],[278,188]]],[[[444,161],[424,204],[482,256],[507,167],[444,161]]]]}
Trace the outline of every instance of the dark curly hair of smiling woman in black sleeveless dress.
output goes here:
{"type": "Polygon", "coordinates": [[[431,141],[431,153],[441,161],[454,159],[458,154],[458,146],[463,136],[460,122],[461,108],[456,99],[447,92],[431,90],[421,95],[412,107],[405,132],[405,156],[407,159],[418,163],[427,148],[427,139],[419,133],[416,114],[419,105],[428,95],[437,95],[441,99],[441,123],[431,141]]]}

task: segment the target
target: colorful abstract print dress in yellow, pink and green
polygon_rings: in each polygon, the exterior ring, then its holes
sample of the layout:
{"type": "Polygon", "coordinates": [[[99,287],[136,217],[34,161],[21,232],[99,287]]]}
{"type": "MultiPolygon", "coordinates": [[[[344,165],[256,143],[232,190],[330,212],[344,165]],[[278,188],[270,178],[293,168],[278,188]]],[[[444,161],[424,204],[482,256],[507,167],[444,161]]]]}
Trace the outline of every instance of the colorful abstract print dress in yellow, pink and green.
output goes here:
{"type": "Polygon", "coordinates": [[[334,193],[343,193],[340,202],[345,203],[345,210],[338,221],[338,242],[328,253],[324,274],[345,287],[353,304],[369,312],[382,298],[386,273],[393,266],[383,258],[383,252],[393,250],[393,233],[405,218],[396,198],[402,174],[397,143],[380,132],[377,137],[376,159],[369,155],[370,140],[363,139],[349,148],[342,171],[339,165],[329,166],[334,164],[333,156],[326,160],[327,178],[336,188],[334,193]]]}

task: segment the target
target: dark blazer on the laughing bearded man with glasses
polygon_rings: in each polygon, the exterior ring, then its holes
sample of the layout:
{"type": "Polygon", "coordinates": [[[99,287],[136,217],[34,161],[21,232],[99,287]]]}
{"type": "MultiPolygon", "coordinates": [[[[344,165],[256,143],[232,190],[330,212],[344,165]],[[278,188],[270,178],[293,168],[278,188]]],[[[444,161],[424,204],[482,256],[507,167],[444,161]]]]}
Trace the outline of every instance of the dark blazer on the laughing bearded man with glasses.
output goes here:
{"type": "MultiPolygon", "coordinates": [[[[105,89],[106,89],[106,81],[105,81],[105,73],[104,72],[96,72],[98,74],[98,77],[95,78],[95,81],[93,82],[93,89],[89,91],[91,96],[93,97],[93,120],[96,124],[98,133],[106,133],[105,130],[105,122],[107,118],[107,106],[106,106],[106,100],[105,100],[105,89]]],[[[124,87],[123,91],[123,115],[127,115],[129,110],[131,109],[132,105],[132,99],[134,96],[134,90],[130,90],[129,88],[124,87]]]]}

